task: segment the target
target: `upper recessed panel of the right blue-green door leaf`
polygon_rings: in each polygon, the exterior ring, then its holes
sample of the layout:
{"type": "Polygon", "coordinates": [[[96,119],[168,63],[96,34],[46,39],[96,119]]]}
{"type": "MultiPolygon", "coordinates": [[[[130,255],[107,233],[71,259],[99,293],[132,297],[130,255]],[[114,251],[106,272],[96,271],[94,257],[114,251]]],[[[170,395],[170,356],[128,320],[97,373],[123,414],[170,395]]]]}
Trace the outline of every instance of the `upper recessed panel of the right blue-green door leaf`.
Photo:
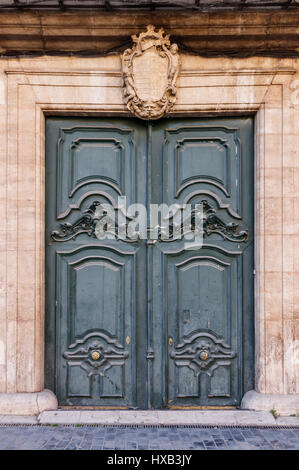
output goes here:
{"type": "Polygon", "coordinates": [[[165,200],[190,200],[198,190],[213,193],[241,217],[241,143],[239,129],[192,125],[165,130],[165,200]]]}

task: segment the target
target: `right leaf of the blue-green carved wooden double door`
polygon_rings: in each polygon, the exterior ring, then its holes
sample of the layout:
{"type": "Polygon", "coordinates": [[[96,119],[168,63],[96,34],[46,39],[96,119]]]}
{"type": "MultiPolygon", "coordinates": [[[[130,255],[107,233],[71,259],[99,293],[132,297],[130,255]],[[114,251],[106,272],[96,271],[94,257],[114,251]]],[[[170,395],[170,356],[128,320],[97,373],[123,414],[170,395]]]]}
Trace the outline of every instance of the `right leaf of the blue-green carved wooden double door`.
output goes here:
{"type": "Polygon", "coordinates": [[[204,216],[202,248],[152,250],[154,387],[164,406],[236,406],[253,387],[252,120],[169,120],[153,135],[153,200],[204,216]]]}

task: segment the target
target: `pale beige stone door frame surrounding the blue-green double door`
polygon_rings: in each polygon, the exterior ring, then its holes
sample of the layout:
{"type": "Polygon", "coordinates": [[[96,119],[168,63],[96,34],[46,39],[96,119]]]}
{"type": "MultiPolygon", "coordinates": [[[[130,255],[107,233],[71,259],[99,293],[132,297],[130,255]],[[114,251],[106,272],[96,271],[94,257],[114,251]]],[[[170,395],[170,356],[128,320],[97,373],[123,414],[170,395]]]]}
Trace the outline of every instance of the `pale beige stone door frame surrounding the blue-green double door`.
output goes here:
{"type": "MultiPolygon", "coordinates": [[[[295,119],[290,101],[290,81],[295,72],[183,69],[172,113],[189,117],[239,113],[256,116],[255,391],[258,393],[253,398],[254,407],[264,409],[268,409],[269,403],[272,408],[273,394],[287,399],[294,398],[289,394],[296,393],[295,382],[293,391],[290,385],[290,377],[294,380],[296,377],[295,354],[287,357],[294,347],[285,298],[290,268],[285,266],[287,261],[283,257],[284,250],[293,246],[287,244],[292,232],[288,232],[285,215],[288,208],[284,204],[290,201],[284,178],[285,168],[293,164],[290,154],[295,145],[291,139],[295,135],[295,119]],[[259,405],[260,394],[263,399],[269,395],[266,404],[259,405]]],[[[6,259],[10,281],[5,324],[6,386],[5,393],[0,394],[0,413],[3,410],[5,414],[18,414],[21,410],[21,414],[34,414],[57,406],[52,392],[43,392],[45,116],[128,116],[128,112],[122,99],[120,70],[82,71],[81,64],[75,71],[18,68],[5,73],[6,259]]],[[[251,398],[252,395],[245,400],[246,407],[250,407],[251,398]]]]}

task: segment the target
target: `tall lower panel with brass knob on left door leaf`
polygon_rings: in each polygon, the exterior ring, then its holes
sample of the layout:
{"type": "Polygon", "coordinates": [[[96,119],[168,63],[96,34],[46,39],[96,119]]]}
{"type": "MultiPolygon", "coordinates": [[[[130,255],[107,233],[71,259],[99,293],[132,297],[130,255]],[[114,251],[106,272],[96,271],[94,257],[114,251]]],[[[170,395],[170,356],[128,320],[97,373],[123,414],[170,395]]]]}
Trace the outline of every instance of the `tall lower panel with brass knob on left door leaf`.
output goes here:
{"type": "Polygon", "coordinates": [[[61,403],[88,405],[100,400],[102,405],[132,405],[133,272],[134,254],[125,256],[108,247],[90,245],[57,253],[61,403]]]}

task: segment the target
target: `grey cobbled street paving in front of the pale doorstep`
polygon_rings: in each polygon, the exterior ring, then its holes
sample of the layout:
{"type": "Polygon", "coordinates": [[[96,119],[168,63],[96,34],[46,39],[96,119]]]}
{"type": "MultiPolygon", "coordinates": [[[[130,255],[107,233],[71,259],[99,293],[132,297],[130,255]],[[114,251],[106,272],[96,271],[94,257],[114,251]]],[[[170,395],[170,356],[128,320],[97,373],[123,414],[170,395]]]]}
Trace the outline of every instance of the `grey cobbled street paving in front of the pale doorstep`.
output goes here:
{"type": "Polygon", "coordinates": [[[3,450],[299,450],[299,428],[4,426],[3,450]]]}

